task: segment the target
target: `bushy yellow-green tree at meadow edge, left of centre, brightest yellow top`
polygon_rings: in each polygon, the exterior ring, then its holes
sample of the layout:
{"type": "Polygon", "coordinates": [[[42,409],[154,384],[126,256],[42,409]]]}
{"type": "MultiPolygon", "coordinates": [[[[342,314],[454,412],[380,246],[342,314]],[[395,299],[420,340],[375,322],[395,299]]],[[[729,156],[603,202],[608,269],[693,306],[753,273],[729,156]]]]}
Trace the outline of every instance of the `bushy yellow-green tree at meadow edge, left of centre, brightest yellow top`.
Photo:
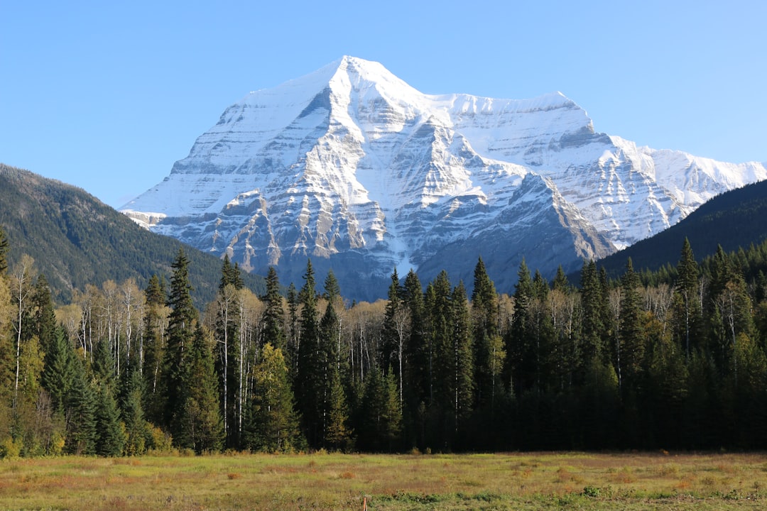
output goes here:
{"type": "Polygon", "coordinates": [[[245,431],[245,446],[265,452],[301,449],[293,391],[281,349],[264,345],[253,377],[253,398],[245,431]]]}

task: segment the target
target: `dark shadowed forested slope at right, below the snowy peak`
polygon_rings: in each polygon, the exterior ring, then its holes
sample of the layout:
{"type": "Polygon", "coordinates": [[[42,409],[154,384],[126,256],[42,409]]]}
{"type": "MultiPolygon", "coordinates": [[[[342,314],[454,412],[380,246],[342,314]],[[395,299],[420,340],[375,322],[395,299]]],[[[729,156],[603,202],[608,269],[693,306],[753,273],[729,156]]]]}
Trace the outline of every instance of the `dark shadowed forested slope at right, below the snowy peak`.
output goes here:
{"type": "Polygon", "coordinates": [[[675,267],[685,237],[698,260],[716,253],[717,245],[732,252],[767,240],[767,181],[718,195],[673,227],[598,264],[614,277],[623,273],[629,257],[637,270],[658,270],[666,264],[675,267]]]}

